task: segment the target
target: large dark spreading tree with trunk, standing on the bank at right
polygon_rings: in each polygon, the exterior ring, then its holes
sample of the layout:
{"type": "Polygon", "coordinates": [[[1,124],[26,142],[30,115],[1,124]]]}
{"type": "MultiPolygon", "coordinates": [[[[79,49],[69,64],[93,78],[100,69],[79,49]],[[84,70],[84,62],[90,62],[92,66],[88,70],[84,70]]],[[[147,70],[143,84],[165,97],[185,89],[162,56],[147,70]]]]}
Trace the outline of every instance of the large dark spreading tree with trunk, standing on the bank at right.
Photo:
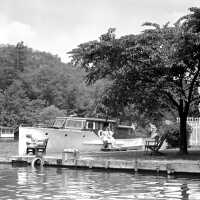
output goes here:
{"type": "Polygon", "coordinates": [[[104,104],[118,113],[131,104],[149,117],[153,113],[153,118],[176,112],[182,154],[187,154],[187,116],[191,105],[199,101],[200,9],[191,11],[175,26],[145,23],[150,29],[119,39],[108,31],[99,41],[70,52],[72,62],[86,70],[89,84],[101,78],[112,80],[104,104]]]}

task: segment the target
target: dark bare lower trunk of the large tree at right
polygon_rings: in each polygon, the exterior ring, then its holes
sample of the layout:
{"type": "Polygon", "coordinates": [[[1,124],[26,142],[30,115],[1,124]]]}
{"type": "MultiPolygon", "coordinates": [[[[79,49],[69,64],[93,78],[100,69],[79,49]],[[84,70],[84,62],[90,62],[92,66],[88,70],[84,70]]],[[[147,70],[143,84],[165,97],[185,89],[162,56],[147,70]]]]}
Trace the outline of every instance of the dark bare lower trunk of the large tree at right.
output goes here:
{"type": "Polygon", "coordinates": [[[181,154],[188,154],[187,149],[187,116],[182,115],[180,116],[180,153],[181,154]]]}

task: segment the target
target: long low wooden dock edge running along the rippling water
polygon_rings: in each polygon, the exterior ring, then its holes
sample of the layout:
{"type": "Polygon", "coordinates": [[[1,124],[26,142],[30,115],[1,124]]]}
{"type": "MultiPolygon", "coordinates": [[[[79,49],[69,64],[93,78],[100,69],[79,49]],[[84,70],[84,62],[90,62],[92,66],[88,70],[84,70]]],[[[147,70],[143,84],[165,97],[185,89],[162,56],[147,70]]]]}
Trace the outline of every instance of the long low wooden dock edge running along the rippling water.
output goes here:
{"type": "MultiPolygon", "coordinates": [[[[34,165],[37,161],[44,166],[70,167],[70,168],[88,168],[102,170],[124,170],[132,172],[151,171],[156,173],[174,174],[174,173],[195,173],[200,174],[200,160],[145,160],[133,158],[126,159],[107,159],[107,158],[87,158],[75,156],[65,156],[65,153],[59,157],[52,156],[12,156],[5,162],[12,164],[34,165]]],[[[0,159],[0,163],[3,163],[0,159]]]]}

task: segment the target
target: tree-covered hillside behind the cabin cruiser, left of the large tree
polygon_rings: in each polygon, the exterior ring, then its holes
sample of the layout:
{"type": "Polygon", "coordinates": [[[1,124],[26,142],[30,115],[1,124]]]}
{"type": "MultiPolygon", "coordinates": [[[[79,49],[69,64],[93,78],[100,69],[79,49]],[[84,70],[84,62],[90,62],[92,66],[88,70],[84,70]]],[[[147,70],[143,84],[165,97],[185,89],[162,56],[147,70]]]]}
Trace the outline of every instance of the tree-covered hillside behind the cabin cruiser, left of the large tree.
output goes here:
{"type": "Polygon", "coordinates": [[[0,125],[45,122],[55,116],[92,116],[104,81],[86,86],[85,72],[23,42],[0,46],[0,125]]]}

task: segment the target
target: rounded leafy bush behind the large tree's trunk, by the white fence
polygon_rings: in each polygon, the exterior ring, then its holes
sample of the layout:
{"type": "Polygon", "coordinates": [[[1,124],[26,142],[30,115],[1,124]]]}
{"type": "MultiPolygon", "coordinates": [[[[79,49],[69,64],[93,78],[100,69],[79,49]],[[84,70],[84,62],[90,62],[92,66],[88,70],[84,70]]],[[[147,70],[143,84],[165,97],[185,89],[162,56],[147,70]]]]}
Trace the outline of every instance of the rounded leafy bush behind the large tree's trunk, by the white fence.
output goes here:
{"type": "MultiPolygon", "coordinates": [[[[180,124],[179,123],[175,123],[175,124],[171,124],[171,125],[165,125],[163,127],[164,130],[164,134],[168,134],[167,136],[167,143],[169,145],[169,147],[179,147],[179,141],[180,141],[180,124]]],[[[192,129],[189,125],[187,125],[187,138],[189,141],[190,138],[190,134],[192,132],[192,129]]]]}

